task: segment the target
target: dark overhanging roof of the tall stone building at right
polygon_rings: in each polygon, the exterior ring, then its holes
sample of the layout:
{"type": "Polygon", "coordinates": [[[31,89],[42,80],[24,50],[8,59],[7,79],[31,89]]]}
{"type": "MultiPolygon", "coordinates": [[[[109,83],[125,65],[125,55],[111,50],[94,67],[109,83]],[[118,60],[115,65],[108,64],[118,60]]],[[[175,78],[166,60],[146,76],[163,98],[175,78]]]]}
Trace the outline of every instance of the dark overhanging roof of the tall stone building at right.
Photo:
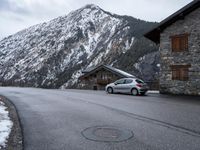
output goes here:
{"type": "Polygon", "coordinates": [[[145,37],[152,40],[155,43],[160,43],[160,33],[166,29],[168,26],[173,24],[179,19],[184,19],[186,15],[191,13],[200,7],[200,0],[193,0],[191,3],[181,8],[165,20],[161,21],[156,27],[151,29],[149,32],[145,33],[145,37]]]}

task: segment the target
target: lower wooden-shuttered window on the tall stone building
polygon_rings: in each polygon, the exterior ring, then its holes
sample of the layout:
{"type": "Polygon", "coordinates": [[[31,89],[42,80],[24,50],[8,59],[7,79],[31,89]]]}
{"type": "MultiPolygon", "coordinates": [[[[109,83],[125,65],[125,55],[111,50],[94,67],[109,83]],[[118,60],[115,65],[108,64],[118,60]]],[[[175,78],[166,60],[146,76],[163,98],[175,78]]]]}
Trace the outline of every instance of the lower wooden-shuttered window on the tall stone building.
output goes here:
{"type": "Polygon", "coordinates": [[[189,80],[189,67],[191,67],[191,65],[172,65],[172,80],[189,80]]]}

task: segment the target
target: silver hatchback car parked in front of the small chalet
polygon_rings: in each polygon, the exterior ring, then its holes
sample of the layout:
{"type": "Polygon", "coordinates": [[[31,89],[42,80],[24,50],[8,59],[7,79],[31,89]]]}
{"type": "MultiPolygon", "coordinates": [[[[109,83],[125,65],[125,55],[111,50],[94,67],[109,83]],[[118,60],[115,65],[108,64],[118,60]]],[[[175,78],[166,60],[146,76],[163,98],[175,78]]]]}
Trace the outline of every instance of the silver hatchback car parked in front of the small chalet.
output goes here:
{"type": "Polygon", "coordinates": [[[144,81],[137,78],[122,78],[106,86],[108,93],[129,93],[132,95],[145,95],[148,86],[144,81]]]}

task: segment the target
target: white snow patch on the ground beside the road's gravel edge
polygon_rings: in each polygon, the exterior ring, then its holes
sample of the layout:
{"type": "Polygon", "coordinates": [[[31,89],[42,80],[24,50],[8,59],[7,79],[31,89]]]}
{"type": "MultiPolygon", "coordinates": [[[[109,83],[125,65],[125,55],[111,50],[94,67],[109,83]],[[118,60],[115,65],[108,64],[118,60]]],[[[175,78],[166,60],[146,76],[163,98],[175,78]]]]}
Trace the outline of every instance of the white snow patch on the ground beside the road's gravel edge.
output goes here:
{"type": "Polygon", "coordinates": [[[0,147],[5,147],[13,123],[8,116],[7,107],[0,101],[0,147]]]}

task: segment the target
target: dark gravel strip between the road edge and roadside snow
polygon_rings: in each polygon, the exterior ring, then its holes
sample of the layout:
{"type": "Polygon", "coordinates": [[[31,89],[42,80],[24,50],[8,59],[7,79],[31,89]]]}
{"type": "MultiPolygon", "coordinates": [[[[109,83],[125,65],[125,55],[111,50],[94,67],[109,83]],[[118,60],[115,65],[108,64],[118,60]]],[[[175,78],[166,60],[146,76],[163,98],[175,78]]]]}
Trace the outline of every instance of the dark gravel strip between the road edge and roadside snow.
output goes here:
{"type": "Polygon", "coordinates": [[[6,97],[0,95],[0,101],[5,103],[6,107],[8,107],[9,117],[13,122],[13,126],[9,139],[7,140],[6,147],[0,148],[0,150],[23,150],[23,134],[17,110],[14,104],[11,103],[6,97]]]}

